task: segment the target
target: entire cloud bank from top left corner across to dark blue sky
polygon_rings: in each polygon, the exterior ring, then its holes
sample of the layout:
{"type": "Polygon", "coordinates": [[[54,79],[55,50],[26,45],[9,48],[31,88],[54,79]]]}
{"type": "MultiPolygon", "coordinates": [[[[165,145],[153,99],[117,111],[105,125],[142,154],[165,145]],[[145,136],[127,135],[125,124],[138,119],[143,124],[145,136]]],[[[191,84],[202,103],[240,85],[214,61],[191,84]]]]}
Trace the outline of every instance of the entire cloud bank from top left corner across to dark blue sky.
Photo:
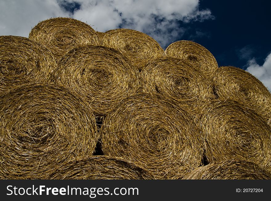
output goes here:
{"type": "Polygon", "coordinates": [[[178,21],[213,18],[210,10],[199,9],[199,0],[2,0],[0,34],[28,37],[39,21],[59,16],[87,22],[102,32],[119,27],[139,30],[163,48],[184,34],[178,21]],[[65,10],[67,2],[76,2],[79,9],[65,10]]]}

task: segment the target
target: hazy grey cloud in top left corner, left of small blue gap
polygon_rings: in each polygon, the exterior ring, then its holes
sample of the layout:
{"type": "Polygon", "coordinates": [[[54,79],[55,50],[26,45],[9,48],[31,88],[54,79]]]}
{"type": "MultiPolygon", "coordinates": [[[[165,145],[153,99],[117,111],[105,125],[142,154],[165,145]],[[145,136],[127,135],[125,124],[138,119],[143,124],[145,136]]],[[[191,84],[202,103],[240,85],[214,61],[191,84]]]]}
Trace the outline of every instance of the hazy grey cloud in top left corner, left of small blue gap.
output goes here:
{"type": "Polygon", "coordinates": [[[69,17],[56,0],[0,1],[0,35],[28,37],[39,21],[52,17],[69,17]]]}

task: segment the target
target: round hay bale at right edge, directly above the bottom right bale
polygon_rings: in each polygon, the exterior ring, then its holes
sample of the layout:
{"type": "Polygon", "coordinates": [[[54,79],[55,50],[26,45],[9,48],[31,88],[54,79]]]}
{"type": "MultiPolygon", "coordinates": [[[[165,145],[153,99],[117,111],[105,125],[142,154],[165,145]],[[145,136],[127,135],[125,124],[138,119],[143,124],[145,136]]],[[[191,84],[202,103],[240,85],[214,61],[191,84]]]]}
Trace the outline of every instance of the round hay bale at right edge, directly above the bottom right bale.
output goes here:
{"type": "Polygon", "coordinates": [[[242,157],[271,164],[271,127],[255,111],[232,100],[215,100],[203,110],[198,125],[209,163],[242,157]]]}

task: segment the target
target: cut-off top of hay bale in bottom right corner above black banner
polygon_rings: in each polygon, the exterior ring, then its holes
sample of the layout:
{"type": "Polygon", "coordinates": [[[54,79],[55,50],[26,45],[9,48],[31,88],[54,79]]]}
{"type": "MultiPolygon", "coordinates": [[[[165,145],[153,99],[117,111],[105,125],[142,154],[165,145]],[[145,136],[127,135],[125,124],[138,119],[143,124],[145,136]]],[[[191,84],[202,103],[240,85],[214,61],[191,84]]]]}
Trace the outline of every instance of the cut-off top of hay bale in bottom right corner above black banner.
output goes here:
{"type": "Polygon", "coordinates": [[[183,179],[271,179],[271,173],[251,161],[228,159],[199,167],[183,179]]]}

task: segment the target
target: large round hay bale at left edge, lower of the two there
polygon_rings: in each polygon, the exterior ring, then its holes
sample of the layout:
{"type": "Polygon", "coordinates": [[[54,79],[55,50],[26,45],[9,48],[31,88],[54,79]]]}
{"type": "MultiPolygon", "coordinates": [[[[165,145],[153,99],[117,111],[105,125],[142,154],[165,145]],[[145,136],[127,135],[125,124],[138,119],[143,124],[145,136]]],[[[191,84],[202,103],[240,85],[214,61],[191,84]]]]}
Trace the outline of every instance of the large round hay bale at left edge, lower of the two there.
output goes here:
{"type": "Polygon", "coordinates": [[[44,179],[59,164],[92,155],[99,138],[91,108],[53,84],[0,96],[0,179],[44,179]]]}

